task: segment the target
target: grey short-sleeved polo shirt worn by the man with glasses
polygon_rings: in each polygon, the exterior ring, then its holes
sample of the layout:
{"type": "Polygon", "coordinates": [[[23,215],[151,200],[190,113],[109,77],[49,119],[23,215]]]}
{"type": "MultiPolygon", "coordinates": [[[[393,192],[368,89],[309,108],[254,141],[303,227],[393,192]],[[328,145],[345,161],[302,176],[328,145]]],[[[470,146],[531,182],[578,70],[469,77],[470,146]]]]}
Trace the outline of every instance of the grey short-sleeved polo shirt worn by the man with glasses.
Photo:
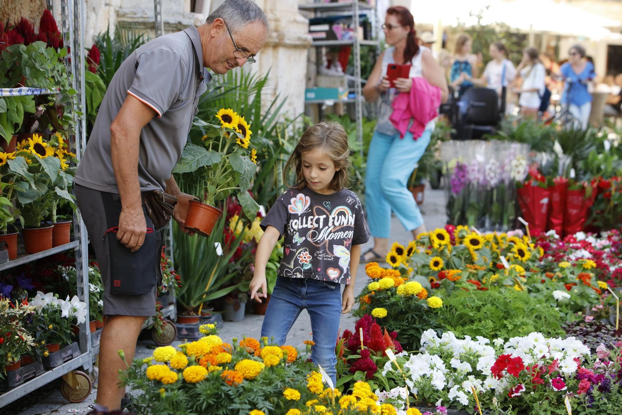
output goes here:
{"type": "Polygon", "coordinates": [[[141,191],[164,190],[182,156],[198,98],[211,75],[203,69],[197,28],[158,37],[136,49],[114,74],[78,166],[75,183],[119,193],[110,157],[110,125],[126,97],[149,105],[156,116],[142,128],[138,178],[141,191]]]}

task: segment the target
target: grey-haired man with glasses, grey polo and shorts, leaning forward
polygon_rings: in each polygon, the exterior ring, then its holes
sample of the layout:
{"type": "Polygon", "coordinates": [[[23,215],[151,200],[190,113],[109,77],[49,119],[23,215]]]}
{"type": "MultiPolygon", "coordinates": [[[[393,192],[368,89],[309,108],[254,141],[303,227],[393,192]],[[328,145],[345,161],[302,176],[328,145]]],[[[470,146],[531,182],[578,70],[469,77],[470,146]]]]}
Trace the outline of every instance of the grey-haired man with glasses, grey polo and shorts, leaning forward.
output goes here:
{"type": "Polygon", "coordinates": [[[269,23],[253,1],[226,0],[199,27],[148,42],[114,74],[75,177],[75,195],[104,282],[97,403],[119,408],[118,350],[134,357],[143,322],[156,312],[162,238],[144,196],[177,197],[182,230],[192,196],[172,170],[182,155],[200,95],[211,75],[255,62],[269,23]]]}

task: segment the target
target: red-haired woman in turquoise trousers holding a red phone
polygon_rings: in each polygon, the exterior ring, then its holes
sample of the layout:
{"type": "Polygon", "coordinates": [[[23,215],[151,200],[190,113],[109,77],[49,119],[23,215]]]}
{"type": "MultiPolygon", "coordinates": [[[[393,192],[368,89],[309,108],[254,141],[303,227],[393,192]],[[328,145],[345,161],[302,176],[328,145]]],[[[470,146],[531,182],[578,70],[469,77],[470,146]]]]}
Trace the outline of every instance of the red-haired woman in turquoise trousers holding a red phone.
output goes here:
{"type": "MultiPolygon", "coordinates": [[[[421,212],[406,183],[430,143],[434,120],[425,125],[421,136],[413,137],[410,131],[406,131],[402,137],[389,119],[393,113],[393,101],[399,93],[410,94],[413,79],[417,78],[439,87],[442,102],[447,100],[448,95],[442,69],[430,49],[419,46],[417,42],[411,12],[406,7],[389,7],[383,29],[390,47],[378,57],[363,88],[368,102],[380,99],[378,123],[369,145],[365,179],[367,216],[374,247],[361,256],[364,261],[384,260],[389,250],[391,211],[408,231],[412,231],[413,237],[425,232],[421,212]],[[409,77],[394,80],[394,87],[387,77],[387,68],[391,64],[411,65],[409,77]]],[[[415,91],[419,92],[418,89],[415,91]]]]}

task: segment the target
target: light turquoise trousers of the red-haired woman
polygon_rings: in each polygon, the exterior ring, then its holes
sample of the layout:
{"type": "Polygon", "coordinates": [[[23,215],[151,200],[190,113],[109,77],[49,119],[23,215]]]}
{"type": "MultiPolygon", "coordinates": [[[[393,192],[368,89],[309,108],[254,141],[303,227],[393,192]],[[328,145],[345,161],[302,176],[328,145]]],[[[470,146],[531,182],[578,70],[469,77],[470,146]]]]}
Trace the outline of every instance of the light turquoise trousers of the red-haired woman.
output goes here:
{"type": "Polygon", "coordinates": [[[419,207],[406,184],[417,162],[430,143],[432,130],[425,130],[417,139],[407,132],[403,139],[396,135],[374,132],[369,143],[365,175],[365,203],[371,235],[388,238],[391,211],[407,231],[424,222],[419,207]]]}

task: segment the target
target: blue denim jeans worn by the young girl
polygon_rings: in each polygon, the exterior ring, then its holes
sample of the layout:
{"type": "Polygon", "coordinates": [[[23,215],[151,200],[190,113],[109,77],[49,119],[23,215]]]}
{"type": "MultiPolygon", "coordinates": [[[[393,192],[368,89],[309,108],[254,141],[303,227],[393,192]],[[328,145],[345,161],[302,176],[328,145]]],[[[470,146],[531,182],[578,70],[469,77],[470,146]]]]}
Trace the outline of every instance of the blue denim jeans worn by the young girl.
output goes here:
{"type": "Polygon", "coordinates": [[[274,338],[277,345],[284,345],[287,333],[307,308],[311,317],[313,342],[311,360],[328,373],[337,383],[337,356],[335,346],[341,318],[340,284],[308,278],[278,277],[270,297],[261,336],[274,338]]]}

